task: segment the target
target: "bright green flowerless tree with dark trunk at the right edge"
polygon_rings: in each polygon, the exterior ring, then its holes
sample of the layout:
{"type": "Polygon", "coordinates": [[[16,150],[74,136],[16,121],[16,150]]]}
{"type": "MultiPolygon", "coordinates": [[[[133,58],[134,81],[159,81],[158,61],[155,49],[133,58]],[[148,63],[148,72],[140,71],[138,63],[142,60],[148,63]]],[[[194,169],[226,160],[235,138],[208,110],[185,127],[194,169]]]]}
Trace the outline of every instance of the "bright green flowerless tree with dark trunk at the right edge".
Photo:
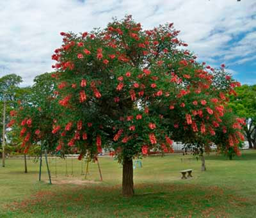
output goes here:
{"type": "Polygon", "coordinates": [[[236,88],[236,96],[230,96],[230,107],[237,116],[246,118],[244,135],[249,143],[249,148],[256,149],[256,85],[243,85],[236,88]]]}

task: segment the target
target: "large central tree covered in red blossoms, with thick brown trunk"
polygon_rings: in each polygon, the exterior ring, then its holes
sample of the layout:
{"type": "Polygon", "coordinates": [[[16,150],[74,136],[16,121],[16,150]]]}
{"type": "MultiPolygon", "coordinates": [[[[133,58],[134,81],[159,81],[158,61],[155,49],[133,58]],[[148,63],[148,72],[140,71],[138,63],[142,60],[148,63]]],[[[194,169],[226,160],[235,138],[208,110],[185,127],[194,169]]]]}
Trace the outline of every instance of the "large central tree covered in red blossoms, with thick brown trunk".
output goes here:
{"type": "Polygon", "coordinates": [[[109,148],[123,164],[126,196],[134,193],[133,157],[172,152],[172,139],[209,143],[225,113],[225,94],[239,85],[196,62],[178,34],[173,24],[143,31],[127,16],[92,33],[61,33],[63,45],[52,55],[63,106],[52,129],[60,137],[57,150],[76,147],[81,158],[109,148]]]}

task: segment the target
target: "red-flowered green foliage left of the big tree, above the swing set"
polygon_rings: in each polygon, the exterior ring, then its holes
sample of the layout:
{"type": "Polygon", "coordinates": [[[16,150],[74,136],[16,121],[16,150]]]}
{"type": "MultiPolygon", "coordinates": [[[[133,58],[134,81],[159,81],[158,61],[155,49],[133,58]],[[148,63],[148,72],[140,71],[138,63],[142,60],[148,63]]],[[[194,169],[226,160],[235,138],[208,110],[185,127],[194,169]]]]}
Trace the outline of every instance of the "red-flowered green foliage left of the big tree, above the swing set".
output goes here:
{"type": "Polygon", "coordinates": [[[24,153],[36,144],[48,151],[56,149],[58,139],[51,132],[54,119],[60,114],[60,105],[56,104],[54,81],[51,73],[36,76],[29,95],[18,100],[15,110],[10,112],[13,118],[8,127],[13,128],[14,136],[22,139],[20,147],[24,153]]]}

